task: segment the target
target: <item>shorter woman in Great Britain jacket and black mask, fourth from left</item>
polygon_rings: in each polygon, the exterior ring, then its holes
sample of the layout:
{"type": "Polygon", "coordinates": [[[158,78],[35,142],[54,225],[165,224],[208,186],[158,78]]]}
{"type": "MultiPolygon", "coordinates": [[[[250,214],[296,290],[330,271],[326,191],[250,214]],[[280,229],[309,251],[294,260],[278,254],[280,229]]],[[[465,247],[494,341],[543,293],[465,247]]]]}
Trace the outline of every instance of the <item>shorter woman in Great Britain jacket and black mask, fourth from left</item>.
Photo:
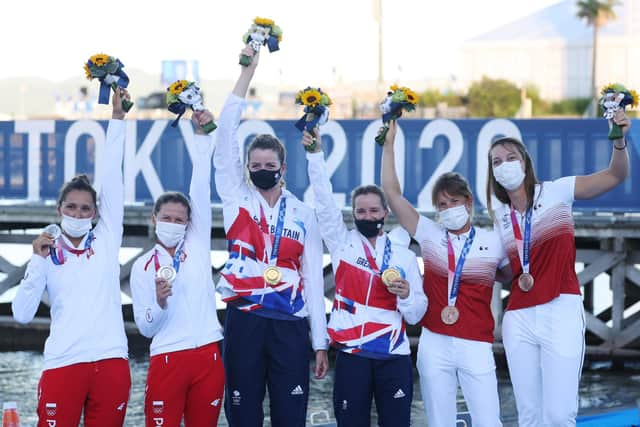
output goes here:
{"type": "Polygon", "coordinates": [[[405,321],[417,323],[427,308],[416,257],[383,231],[388,208],[375,185],[354,190],[356,229],[347,229],[333,198],[320,138],[305,132],[302,143],[310,146],[314,140],[315,149],[307,153],[309,181],[336,281],[328,325],[331,345],[339,350],[335,416],[339,426],[368,427],[374,398],[381,427],[408,427],[413,374],[405,321]],[[390,280],[393,272],[397,275],[390,280]]]}

